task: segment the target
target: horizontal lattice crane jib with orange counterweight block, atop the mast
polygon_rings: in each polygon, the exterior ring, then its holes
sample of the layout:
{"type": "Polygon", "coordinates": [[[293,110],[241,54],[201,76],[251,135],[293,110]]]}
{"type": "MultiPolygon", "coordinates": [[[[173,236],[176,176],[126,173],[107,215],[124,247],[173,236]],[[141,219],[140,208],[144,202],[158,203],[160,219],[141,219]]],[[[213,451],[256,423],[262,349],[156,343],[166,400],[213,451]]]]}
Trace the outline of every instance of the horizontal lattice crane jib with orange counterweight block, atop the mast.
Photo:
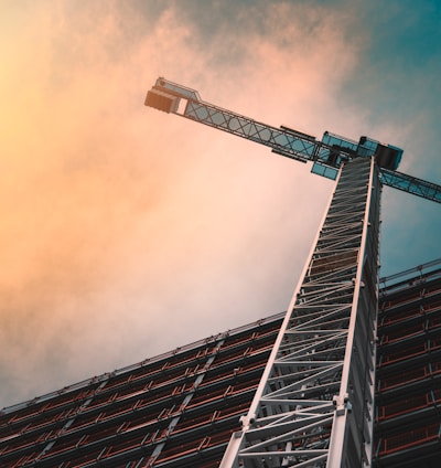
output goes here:
{"type": "Polygon", "coordinates": [[[441,185],[398,172],[402,150],[368,137],[359,141],[325,131],[322,140],[291,129],[273,127],[201,99],[195,89],[158,78],[148,92],[146,105],[173,113],[228,134],[265,145],[278,155],[301,162],[312,161],[311,171],[335,180],[344,162],[375,157],[385,185],[441,203],[441,185]]]}

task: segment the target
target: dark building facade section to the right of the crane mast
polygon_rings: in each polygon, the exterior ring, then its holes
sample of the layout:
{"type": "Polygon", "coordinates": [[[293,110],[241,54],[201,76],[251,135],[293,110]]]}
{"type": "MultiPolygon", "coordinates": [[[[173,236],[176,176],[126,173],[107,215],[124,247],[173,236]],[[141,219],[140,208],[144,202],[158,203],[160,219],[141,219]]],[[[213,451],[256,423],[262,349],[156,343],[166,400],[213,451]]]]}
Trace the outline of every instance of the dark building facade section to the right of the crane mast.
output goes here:
{"type": "Polygon", "coordinates": [[[441,462],[441,263],[380,289],[374,457],[378,467],[441,462]]]}

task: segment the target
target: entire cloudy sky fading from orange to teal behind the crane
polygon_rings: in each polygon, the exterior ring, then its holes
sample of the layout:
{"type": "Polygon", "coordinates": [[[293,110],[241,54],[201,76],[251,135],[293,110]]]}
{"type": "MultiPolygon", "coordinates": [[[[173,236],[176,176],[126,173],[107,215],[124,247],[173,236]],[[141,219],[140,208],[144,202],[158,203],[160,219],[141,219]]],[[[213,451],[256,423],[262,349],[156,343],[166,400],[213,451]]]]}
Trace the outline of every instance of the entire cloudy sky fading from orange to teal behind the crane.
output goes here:
{"type": "MultiPolygon", "coordinates": [[[[287,309],[334,183],[148,108],[158,76],[441,183],[437,0],[2,0],[0,408],[287,309]]],[[[383,191],[381,276],[441,257],[383,191]]]]}

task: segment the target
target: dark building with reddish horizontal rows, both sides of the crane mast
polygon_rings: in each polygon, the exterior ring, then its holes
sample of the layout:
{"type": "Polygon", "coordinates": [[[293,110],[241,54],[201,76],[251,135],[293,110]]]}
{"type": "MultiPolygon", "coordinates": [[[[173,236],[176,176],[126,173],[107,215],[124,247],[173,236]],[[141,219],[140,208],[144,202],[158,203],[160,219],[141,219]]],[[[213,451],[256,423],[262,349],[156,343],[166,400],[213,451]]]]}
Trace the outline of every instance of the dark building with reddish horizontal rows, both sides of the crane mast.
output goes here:
{"type": "MultiPolygon", "coordinates": [[[[0,466],[218,467],[283,316],[3,408],[0,466]]],[[[438,467],[441,260],[380,281],[377,340],[373,466],[438,467]]]]}

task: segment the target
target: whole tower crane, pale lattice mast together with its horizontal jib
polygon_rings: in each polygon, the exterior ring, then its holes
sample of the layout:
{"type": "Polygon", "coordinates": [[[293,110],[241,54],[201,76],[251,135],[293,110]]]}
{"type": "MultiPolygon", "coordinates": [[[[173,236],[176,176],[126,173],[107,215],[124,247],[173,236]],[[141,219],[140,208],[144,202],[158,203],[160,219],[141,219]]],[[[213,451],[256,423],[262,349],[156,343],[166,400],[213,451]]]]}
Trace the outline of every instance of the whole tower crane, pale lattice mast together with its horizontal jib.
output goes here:
{"type": "Polygon", "coordinates": [[[159,77],[146,105],[312,162],[336,181],[278,338],[222,468],[370,467],[381,187],[441,203],[441,187],[401,172],[402,150],[323,138],[208,104],[159,77]]]}

